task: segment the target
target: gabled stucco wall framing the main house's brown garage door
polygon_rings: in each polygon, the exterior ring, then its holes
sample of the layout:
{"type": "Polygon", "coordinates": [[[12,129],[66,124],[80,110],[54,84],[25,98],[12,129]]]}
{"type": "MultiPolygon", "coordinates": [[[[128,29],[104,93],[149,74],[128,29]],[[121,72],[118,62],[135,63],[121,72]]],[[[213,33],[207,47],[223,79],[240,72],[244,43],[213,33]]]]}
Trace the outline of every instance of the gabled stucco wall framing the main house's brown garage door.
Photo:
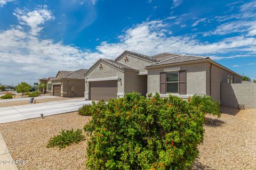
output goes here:
{"type": "MultiPolygon", "coordinates": [[[[99,79],[99,78],[119,77],[121,81],[117,82],[118,83],[117,92],[124,94],[124,72],[104,62],[100,62],[99,64],[96,65],[95,68],[89,74],[87,74],[85,78],[99,79]],[[102,64],[102,70],[100,70],[99,64],[102,64]]],[[[85,82],[85,92],[89,92],[89,82],[85,82]]]]}

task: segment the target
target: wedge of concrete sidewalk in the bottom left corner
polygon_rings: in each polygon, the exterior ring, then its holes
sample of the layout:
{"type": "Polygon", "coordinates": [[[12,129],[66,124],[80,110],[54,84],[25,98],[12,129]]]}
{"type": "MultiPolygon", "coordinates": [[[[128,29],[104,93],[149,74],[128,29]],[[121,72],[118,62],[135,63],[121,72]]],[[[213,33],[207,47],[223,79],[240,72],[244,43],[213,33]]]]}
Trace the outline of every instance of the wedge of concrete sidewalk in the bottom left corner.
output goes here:
{"type": "Polygon", "coordinates": [[[4,142],[2,134],[0,133],[0,169],[1,170],[18,170],[11,154],[4,142]]]}

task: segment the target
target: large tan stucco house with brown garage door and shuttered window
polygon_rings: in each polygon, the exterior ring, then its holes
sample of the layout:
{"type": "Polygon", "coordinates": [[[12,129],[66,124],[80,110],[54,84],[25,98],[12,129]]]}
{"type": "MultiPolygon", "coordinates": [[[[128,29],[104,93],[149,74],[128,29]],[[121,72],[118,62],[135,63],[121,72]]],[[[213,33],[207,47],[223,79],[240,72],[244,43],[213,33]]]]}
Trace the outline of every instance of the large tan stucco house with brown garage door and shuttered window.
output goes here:
{"type": "Polygon", "coordinates": [[[210,95],[220,102],[221,83],[241,83],[242,76],[209,57],[163,53],[147,56],[129,51],[115,61],[101,58],[85,73],[85,99],[108,101],[136,91],[187,98],[210,95]]]}

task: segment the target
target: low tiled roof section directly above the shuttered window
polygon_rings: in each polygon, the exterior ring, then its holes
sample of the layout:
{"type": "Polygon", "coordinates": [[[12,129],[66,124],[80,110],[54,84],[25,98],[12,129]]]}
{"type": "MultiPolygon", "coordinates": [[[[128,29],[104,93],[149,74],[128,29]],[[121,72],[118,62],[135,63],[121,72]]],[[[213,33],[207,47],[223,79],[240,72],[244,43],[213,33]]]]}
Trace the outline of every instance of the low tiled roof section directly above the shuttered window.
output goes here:
{"type": "MultiPolygon", "coordinates": [[[[165,58],[166,56],[163,56],[162,58],[165,58]]],[[[153,64],[146,65],[146,67],[150,66],[157,66],[157,65],[165,65],[165,64],[174,64],[174,63],[182,63],[182,62],[191,62],[191,61],[198,61],[198,60],[205,60],[209,57],[205,56],[197,56],[197,55],[170,55],[169,58],[166,60],[162,60],[160,62],[156,62],[153,64]]]]}

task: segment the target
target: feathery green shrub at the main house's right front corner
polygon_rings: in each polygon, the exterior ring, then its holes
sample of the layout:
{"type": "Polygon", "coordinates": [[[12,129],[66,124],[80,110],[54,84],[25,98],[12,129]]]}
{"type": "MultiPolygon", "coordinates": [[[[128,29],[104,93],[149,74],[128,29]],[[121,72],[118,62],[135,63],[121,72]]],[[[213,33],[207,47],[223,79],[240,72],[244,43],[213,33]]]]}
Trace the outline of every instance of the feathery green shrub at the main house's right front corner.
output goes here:
{"type": "Polygon", "coordinates": [[[221,116],[219,103],[211,96],[194,95],[191,98],[188,98],[188,101],[191,105],[198,107],[200,111],[205,114],[218,116],[218,118],[221,116]]]}

